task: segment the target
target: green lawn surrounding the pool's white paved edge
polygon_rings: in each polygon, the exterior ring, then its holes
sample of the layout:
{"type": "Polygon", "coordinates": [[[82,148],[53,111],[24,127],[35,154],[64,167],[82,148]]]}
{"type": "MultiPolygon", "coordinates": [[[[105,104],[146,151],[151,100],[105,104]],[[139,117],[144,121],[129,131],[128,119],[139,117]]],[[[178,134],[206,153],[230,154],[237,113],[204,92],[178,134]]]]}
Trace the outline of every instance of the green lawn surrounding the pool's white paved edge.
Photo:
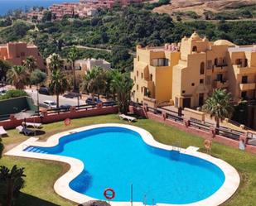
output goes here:
{"type": "MultiPolygon", "coordinates": [[[[106,123],[106,122],[123,122],[118,119],[117,115],[107,115],[99,117],[85,117],[72,120],[69,127],[65,127],[63,122],[56,122],[43,126],[45,134],[41,134],[41,141],[46,140],[52,134],[62,132],[75,127],[83,127],[90,124],[106,123]]],[[[204,151],[203,139],[196,137],[186,132],[177,130],[174,127],[166,126],[162,123],[154,122],[147,119],[139,119],[138,122],[132,123],[134,126],[142,127],[148,132],[152,133],[157,141],[161,141],[165,144],[174,144],[177,141],[181,141],[182,147],[198,146],[200,151],[204,151]]],[[[7,131],[9,137],[3,138],[3,142],[7,148],[14,146],[15,144],[24,141],[27,137],[17,134],[15,130],[7,131]]],[[[241,176],[241,184],[237,194],[233,198],[229,199],[225,206],[254,206],[256,205],[256,156],[239,151],[229,146],[223,146],[219,143],[214,143],[212,148],[212,155],[219,157],[229,164],[233,165],[241,176]]],[[[54,193],[54,182],[68,170],[68,165],[63,165],[56,162],[45,160],[30,160],[20,159],[4,156],[0,160],[0,165],[19,165],[26,168],[26,187],[22,189],[22,195],[18,199],[17,204],[19,206],[55,206],[63,205],[70,206],[75,205],[69,201],[60,198],[54,193]]]]}

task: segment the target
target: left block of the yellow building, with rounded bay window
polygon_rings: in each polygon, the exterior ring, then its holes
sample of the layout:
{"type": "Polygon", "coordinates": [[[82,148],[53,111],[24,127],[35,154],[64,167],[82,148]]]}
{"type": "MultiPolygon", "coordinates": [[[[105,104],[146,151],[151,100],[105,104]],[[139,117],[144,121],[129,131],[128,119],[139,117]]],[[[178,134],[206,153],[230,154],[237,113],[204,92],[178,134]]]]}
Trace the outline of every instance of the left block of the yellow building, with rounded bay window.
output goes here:
{"type": "Polygon", "coordinates": [[[172,68],[179,58],[180,52],[175,44],[145,48],[137,46],[134,70],[131,72],[133,101],[151,106],[170,103],[172,68]]]}

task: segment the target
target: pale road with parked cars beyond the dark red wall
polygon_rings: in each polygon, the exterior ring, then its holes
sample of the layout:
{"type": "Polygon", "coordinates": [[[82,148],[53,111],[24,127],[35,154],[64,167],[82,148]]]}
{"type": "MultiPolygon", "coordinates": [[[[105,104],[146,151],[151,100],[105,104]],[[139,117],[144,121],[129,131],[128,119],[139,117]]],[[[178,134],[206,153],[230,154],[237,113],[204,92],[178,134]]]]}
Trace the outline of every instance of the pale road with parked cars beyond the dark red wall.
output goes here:
{"type": "MultiPolygon", "coordinates": [[[[31,95],[34,103],[37,103],[37,91],[32,89],[26,89],[25,91],[31,95]]],[[[46,100],[56,101],[56,96],[44,95],[39,93],[39,103],[43,103],[43,101],[46,100]]],[[[60,105],[61,104],[70,104],[71,106],[77,106],[78,101],[77,98],[65,98],[63,96],[60,96],[60,105]]],[[[85,104],[85,99],[80,99],[80,105],[82,104],[85,104]]]]}

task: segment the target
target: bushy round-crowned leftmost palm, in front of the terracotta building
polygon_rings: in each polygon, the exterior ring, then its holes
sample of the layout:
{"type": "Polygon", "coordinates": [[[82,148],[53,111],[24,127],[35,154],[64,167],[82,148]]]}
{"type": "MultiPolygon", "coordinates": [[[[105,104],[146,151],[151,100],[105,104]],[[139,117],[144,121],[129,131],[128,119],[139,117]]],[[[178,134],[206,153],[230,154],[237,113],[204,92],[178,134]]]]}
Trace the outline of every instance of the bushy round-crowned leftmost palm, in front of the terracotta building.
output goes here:
{"type": "Polygon", "coordinates": [[[24,89],[29,83],[29,74],[24,66],[13,66],[7,71],[7,83],[15,86],[16,89],[24,89]]]}

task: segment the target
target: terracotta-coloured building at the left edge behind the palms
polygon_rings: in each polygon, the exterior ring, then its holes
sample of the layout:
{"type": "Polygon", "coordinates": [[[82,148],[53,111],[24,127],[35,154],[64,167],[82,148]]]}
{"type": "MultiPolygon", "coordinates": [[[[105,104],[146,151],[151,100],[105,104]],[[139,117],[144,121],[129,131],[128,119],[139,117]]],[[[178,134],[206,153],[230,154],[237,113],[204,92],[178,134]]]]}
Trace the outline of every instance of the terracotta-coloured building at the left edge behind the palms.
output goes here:
{"type": "Polygon", "coordinates": [[[28,56],[33,56],[39,69],[45,70],[44,60],[35,45],[25,42],[10,42],[0,45],[0,60],[7,60],[12,65],[22,65],[28,56]]]}

